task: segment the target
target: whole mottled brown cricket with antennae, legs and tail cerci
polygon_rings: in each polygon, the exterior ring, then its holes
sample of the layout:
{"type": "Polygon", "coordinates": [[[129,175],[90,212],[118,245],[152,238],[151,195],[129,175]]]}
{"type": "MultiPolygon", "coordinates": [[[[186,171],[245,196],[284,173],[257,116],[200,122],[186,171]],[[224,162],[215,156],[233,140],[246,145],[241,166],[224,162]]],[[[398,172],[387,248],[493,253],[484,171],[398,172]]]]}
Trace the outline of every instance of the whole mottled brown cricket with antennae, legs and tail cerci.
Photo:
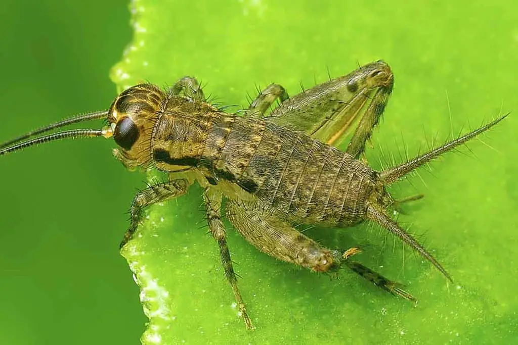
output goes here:
{"type": "Polygon", "coordinates": [[[118,95],[108,110],[69,117],[1,144],[0,156],[50,141],[104,137],[113,138],[118,146],[113,155],[128,170],[156,169],[167,174],[166,182],[150,184],[135,195],[120,248],[132,241],[146,207],[180,197],[198,183],[204,189],[210,233],[248,329],[254,327],[238,289],[223,216],[250,244],[274,258],[325,274],[347,267],[393,295],[416,301],[402,284],[354,261],[361,248],[325,248],[296,229],[298,224],[347,228],[364,221],[377,223],[452,281],[439,261],[391,217],[399,204],[422,196],[398,200],[386,187],[477,137],[508,114],[376,171],[364,151],[393,85],[391,68],[377,61],[291,98],[281,85],[271,84],[248,109],[227,113],[206,100],[192,77],[164,89],[139,84],[118,95]],[[93,120],[104,120],[106,125],[53,131],[93,120]],[[351,139],[343,152],[336,146],[346,134],[351,139]]]}

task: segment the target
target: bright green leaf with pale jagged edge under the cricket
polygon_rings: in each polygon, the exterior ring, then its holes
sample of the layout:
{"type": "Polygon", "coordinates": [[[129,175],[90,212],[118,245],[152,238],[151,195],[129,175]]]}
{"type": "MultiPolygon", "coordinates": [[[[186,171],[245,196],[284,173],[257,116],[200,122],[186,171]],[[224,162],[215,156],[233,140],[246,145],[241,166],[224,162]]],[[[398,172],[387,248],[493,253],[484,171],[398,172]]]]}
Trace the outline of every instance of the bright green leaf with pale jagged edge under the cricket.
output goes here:
{"type": "MultiPolygon", "coordinates": [[[[384,121],[367,158],[403,160],[461,128],[518,109],[518,5],[493,2],[132,3],[134,38],[112,69],[119,90],[141,81],[171,85],[189,75],[218,103],[246,107],[256,86],[290,94],[383,58],[395,73],[384,121]],[[502,110],[503,109],[503,110],[502,110]],[[451,115],[450,115],[451,113],[451,115]],[[395,158],[394,158],[395,157],[395,158]]],[[[430,164],[396,197],[424,193],[399,221],[449,270],[449,284],[376,227],[311,229],[329,247],[362,246],[359,259],[407,284],[414,306],[343,271],[330,281],[258,252],[229,226],[239,287],[257,329],[247,332],[206,234],[199,187],[149,208],[123,250],[150,318],[145,344],[506,343],[518,336],[514,287],[518,217],[518,121],[510,116],[466,155],[430,164]],[[490,146],[490,147],[487,147],[490,146]],[[492,148],[494,147],[494,148],[492,148]],[[475,158],[473,158],[475,157],[475,158]]]]}

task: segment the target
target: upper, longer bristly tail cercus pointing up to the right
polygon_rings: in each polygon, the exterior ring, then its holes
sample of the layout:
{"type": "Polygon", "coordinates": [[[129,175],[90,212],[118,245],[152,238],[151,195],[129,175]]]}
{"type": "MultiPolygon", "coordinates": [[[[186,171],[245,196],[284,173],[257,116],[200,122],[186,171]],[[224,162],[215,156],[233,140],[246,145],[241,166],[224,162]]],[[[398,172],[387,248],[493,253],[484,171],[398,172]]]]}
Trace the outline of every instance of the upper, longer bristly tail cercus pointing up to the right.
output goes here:
{"type": "Polygon", "coordinates": [[[455,147],[464,144],[468,140],[478,136],[480,133],[485,132],[486,130],[490,129],[491,127],[495,126],[497,123],[502,121],[504,118],[506,118],[509,115],[509,113],[497,118],[496,120],[488,123],[487,125],[484,125],[468,134],[465,134],[464,136],[457,138],[455,140],[452,140],[448,143],[445,143],[444,145],[434,148],[433,150],[425,153],[424,155],[421,155],[419,157],[415,157],[412,160],[409,160],[408,162],[405,162],[401,164],[400,166],[391,168],[389,170],[382,171],[380,173],[380,179],[384,183],[384,185],[390,185],[391,183],[396,182],[400,177],[405,176],[409,172],[411,172],[414,169],[417,169],[421,167],[426,162],[439,157],[445,152],[451,151],[455,147]]]}

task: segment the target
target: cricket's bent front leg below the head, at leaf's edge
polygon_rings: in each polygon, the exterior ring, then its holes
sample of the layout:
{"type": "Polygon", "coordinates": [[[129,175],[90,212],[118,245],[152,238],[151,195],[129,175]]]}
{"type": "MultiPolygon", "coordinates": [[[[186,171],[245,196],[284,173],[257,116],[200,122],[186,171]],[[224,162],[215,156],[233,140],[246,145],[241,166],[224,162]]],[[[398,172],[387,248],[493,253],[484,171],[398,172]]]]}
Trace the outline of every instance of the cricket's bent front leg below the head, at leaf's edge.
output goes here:
{"type": "Polygon", "coordinates": [[[175,179],[150,185],[148,188],[139,191],[130,208],[130,228],[124,234],[124,238],[120,244],[120,248],[133,238],[138,224],[142,220],[142,209],[144,207],[156,204],[157,202],[166,201],[185,194],[189,187],[189,183],[185,179],[175,179]]]}

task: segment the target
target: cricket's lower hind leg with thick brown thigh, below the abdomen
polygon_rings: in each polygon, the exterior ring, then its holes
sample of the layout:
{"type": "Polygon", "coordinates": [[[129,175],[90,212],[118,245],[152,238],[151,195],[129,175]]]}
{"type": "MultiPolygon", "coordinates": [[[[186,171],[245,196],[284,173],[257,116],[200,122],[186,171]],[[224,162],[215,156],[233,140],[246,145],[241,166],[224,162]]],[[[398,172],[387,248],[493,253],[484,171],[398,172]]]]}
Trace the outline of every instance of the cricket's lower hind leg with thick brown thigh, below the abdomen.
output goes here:
{"type": "Polygon", "coordinates": [[[324,248],[290,224],[261,212],[255,204],[229,201],[226,216],[248,242],[274,258],[324,273],[334,273],[345,265],[381,289],[415,301],[412,295],[401,289],[401,284],[351,261],[350,258],[359,252],[356,247],[343,253],[324,248]]]}

